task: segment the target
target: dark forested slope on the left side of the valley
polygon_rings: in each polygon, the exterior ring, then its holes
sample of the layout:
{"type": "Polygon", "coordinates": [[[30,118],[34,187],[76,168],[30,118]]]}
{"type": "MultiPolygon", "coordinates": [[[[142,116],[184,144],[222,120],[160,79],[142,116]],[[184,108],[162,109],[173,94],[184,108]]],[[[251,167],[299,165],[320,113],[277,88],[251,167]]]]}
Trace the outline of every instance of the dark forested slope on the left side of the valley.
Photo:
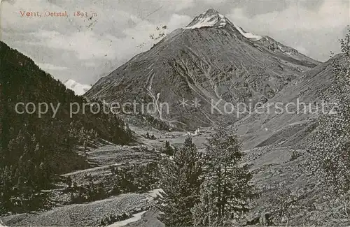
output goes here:
{"type": "Polygon", "coordinates": [[[87,108],[85,114],[70,117],[70,103],[83,106],[85,98],[3,42],[0,64],[1,212],[15,212],[24,201],[16,205],[13,199],[30,200],[49,189],[57,175],[88,168],[85,158],[76,152],[78,145],[93,145],[98,138],[123,145],[133,141],[129,127],[116,115],[94,114],[87,108]],[[41,117],[37,112],[15,112],[17,103],[29,102],[60,105],[55,117],[51,108],[41,117]]]}

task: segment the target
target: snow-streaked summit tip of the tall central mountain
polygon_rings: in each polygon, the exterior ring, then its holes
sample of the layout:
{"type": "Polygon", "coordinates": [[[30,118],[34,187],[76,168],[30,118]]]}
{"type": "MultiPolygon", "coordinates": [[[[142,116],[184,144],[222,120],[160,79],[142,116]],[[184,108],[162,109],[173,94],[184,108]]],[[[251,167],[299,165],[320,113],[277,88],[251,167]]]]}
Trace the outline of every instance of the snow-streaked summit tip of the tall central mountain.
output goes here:
{"type": "Polygon", "coordinates": [[[202,27],[225,27],[228,20],[214,9],[209,9],[188,24],[184,29],[200,29],[202,27]]]}

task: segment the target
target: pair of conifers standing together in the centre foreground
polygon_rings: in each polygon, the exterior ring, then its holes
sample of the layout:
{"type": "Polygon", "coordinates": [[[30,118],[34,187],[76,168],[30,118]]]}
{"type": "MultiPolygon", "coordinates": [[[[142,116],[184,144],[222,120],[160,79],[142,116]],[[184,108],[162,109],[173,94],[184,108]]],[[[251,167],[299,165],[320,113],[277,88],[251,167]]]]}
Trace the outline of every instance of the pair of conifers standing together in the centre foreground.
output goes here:
{"type": "Polygon", "coordinates": [[[166,226],[232,226],[258,196],[232,131],[216,128],[205,152],[191,138],[160,167],[160,219],[166,226]]]}

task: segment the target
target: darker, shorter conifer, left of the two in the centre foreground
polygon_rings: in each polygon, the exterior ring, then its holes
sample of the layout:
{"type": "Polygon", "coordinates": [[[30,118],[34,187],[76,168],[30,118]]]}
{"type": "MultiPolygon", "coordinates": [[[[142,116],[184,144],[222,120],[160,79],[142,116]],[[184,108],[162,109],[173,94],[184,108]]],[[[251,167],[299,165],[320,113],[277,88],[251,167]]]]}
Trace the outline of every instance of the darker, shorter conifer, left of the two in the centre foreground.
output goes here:
{"type": "Polygon", "coordinates": [[[201,154],[191,138],[161,166],[163,189],[160,219],[166,226],[193,226],[191,209],[199,201],[202,180],[201,154]]]}

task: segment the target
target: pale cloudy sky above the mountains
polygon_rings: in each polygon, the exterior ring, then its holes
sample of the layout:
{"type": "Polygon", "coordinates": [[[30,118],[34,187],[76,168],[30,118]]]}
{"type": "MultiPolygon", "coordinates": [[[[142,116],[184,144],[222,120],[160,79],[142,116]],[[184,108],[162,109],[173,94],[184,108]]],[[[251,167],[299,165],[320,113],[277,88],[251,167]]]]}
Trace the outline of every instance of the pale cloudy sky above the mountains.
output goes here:
{"type": "Polygon", "coordinates": [[[209,8],[245,31],[270,36],[326,61],[330,52],[339,52],[338,40],[350,25],[349,4],[349,0],[2,0],[0,38],[62,82],[72,79],[93,85],[209,8]],[[45,16],[65,11],[68,17],[45,16]],[[76,12],[86,12],[87,17],[76,12]]]}

